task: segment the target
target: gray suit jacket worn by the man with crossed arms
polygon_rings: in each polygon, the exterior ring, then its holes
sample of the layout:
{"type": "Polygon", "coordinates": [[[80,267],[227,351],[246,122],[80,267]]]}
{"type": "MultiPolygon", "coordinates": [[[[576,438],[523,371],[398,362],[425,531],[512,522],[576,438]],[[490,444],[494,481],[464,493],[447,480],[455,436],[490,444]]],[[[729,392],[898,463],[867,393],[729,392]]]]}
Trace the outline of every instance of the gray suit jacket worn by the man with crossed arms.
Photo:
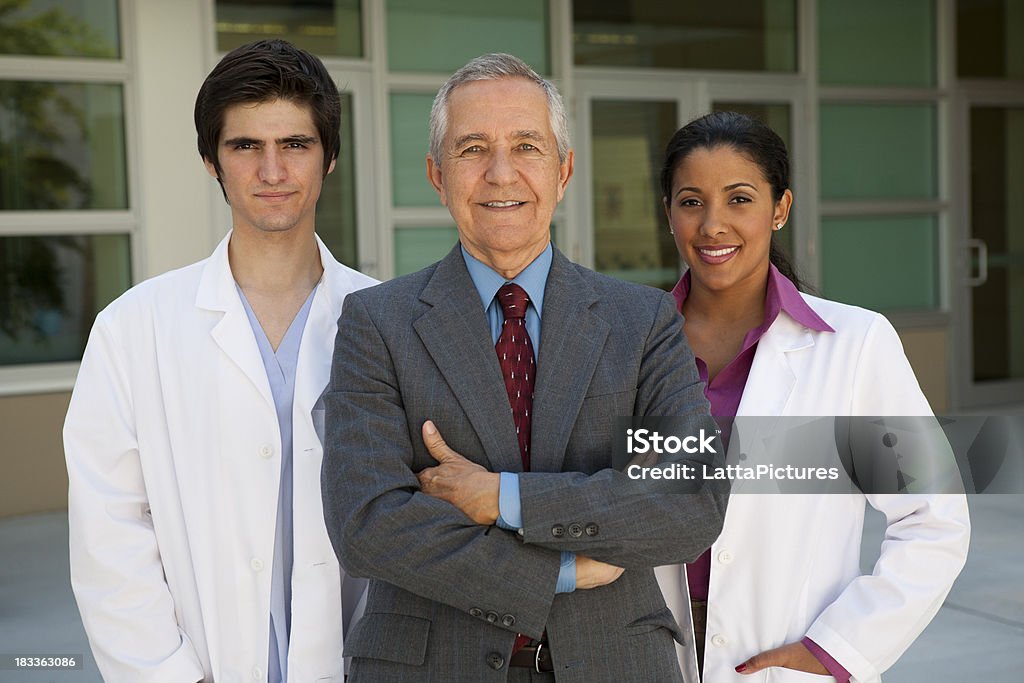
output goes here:
{"type": "MultiPolygon", "coordinates": [[[[328,530],[370,577],[347,635],[350,681],[504,681],[517,633],[547,629],[559,683],[681,681],[679,629],[651,567],[718,536],[726,495],[636,495],[611,468],[614,418],[690,416],[714,431],[670,295],[570,263],[545,290],[521,533],[472,523],[419,490],[420,435],[495,472],[522,465],[486,315],[458,245],[420,272],[354,292],[339,322],[322,481],[328,530]],[[559,532],[559,529],[562,532],[559,532]],[[626,568],[555,595],[559,551],[626,568]]],[[[710,462],[691,457],[691,462],[710,462]]]]}

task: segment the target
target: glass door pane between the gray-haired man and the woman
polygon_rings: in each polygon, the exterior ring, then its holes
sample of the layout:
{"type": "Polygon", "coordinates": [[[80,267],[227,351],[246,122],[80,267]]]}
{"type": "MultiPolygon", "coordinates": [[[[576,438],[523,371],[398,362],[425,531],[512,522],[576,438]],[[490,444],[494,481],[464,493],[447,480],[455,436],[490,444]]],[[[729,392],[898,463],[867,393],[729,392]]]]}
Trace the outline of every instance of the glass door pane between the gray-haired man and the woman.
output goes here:
{"type": "Polygon", "coordinates": [[[679,279],[658,176],[677,117],[673,101],[592,102],[596,270],[662,289],[679,279]]]}

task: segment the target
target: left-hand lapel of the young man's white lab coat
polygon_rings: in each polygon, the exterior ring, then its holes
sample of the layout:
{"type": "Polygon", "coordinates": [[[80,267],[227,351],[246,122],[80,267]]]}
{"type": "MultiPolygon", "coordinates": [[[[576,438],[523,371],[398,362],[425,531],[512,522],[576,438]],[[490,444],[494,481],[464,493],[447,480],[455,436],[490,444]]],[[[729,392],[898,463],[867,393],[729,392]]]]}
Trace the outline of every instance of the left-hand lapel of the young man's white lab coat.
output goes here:
{"type": "Polygon", "coordinates": [[[196,295],[196,306],[223,313],[220,322],[210,331],[210,336],[224,354],[249,378],[263,399],[272,407],[273,397],[270,394],[270,383],[266,379],[263,358],[260,356],[249,316],[242,305],[228,264],[227,243],[230,239],[231,236],[228,233],[217,245],[217,249],[204,266],[199,292],[196,295]]]}

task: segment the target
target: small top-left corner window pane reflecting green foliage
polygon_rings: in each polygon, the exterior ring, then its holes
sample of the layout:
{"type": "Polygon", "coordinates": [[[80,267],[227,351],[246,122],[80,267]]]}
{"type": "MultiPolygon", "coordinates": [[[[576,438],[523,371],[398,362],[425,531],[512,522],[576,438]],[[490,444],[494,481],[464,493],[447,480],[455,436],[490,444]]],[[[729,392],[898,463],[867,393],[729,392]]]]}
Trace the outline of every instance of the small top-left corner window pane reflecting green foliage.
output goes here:
{"type": "Polygon", "coordinates": [[[0,54],[117,59],[118,0],[0,2],[0,54]]]}

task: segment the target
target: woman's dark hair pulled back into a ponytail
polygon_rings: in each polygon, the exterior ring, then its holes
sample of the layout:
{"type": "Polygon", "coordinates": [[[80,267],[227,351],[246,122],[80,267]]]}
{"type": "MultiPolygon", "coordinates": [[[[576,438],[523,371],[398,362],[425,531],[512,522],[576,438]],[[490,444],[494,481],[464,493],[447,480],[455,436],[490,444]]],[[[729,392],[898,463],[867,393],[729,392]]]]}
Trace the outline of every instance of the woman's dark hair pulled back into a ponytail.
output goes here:
{"type": "MultiPolygon", "coordinates": [[[[785,142],[766,124],[736,112],[715,112],[694,119],[676,131],[665,148],[662,193],[672,197],[672,177],[683,160],[697,150],[732,147],[758,165],[771,186],[772,201],[778,203],[790,188],[790,155],[785,142]]],[[[797,289],[805,291],[797,269],[776,244],[772,233],[768,260],[797,289]]]]}

